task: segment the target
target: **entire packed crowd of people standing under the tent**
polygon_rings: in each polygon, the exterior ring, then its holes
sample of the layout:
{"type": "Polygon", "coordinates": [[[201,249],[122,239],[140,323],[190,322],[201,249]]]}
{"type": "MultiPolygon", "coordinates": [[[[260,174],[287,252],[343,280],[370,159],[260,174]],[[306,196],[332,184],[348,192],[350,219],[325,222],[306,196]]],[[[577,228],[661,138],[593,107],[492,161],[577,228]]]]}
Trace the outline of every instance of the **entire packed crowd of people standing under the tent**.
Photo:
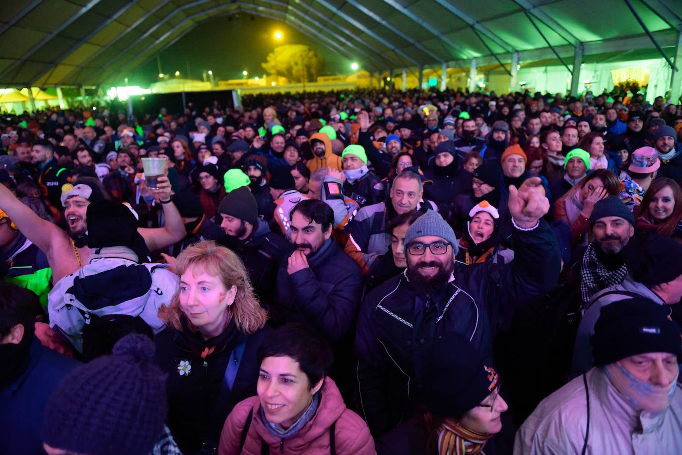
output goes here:
{"type": "Polygon", "coordinates": [[[679,451],[682,106],[243,104],[0,119],[0,453],[679,451]]]}

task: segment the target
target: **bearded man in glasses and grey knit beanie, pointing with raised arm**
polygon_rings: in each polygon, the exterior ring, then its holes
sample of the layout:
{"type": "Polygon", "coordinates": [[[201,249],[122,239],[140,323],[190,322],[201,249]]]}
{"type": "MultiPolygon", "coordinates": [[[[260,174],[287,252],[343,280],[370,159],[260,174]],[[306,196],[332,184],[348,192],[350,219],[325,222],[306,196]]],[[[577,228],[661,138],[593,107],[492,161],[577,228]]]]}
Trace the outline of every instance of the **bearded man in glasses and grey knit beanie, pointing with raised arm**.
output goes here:
{"type": "Polygon", "coordinates": [[[355,338],[357,379],[364,417],[375,436],[418,409],[424,359],[447,332],[469,338],[492,355],[495,327],[507,312],[552,289],[559,248],[542,220],[549,201],[537,177],[509,187],[516,259],[509,264],[455,262],[457,239],[429,210],[405,234],[407,269],[366,297],[355,338]]]}

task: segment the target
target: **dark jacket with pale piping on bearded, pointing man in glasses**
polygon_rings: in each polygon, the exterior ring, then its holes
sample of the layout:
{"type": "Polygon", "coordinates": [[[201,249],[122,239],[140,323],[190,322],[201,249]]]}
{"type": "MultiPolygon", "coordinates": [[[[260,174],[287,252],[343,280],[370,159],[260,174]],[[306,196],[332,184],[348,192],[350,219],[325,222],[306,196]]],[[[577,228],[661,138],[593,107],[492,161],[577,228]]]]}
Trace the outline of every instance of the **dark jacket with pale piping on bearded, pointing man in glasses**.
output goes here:
{"type": "Polygon", "coordinates": [[[430,295],[417,293],[402,274],[365,297],[355,338],[356,371],[364,417],[375,436],[396,426],[414,404],[436,336],[464,334],[489,358],[501,321],[557,283],[559,248],[546,222],[532,231],[514,229],[514,241],[511,263],[456,263],[454,280],[430,295]]]}

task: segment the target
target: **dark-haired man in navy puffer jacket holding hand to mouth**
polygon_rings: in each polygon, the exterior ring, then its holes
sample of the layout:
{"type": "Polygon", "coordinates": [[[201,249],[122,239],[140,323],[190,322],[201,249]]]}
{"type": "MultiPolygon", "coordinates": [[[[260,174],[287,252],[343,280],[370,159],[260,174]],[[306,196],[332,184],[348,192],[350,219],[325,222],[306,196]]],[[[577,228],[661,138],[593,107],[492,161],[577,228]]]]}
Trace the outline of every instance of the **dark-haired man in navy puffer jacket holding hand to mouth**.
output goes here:
{"type": "Polygon", "coordinates": [[[320,331],[334,351],[330,372],[344,397],[353,396],[353,331],[360,309],[364,278],[360,266],[331,238],[334,213],[323,201],[308,199],[291,209],[291,244],[280,263],[276,325],[292,321],[320,331]]]}

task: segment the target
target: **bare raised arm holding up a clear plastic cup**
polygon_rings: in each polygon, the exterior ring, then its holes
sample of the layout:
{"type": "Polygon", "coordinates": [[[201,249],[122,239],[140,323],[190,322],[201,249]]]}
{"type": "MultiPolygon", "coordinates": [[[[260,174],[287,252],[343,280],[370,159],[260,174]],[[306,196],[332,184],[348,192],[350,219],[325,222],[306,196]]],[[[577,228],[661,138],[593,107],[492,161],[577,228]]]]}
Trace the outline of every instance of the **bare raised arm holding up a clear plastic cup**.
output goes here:
{"type": "MultiPolygon", "coordinates": [[[[166,224],[162,228],[139,228],[137,231],[145,239],[149,251],[158,251],[166,246],[176,244],[187,235],[185,224],[182,222],[180,212],[170,197],[170,183],[168,175],[158,178],[159,185],[157,190],[153,190],[154,195],[158,196],[159,203],[164,210],[166,224]],[[170,201],[167,202],[166,201],[170,201]]],[[[156,199],[156,197],[155,197],[156,199]]]]}

